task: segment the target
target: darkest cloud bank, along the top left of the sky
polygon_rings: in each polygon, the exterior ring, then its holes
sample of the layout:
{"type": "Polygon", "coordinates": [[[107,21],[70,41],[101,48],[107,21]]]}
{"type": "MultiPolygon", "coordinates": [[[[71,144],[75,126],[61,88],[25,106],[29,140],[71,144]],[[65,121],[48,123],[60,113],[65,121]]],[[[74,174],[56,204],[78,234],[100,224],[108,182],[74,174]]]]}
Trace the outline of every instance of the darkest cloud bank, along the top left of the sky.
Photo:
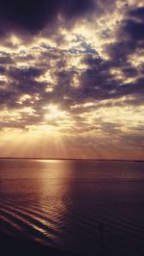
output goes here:
{"type": "Polygon", "coordinates": [[[36,33],[46,23],[52,26],[59,13],[69,19],[92,11],[93,8],[93,0],[2,0],[0,34],[13,28],[36,33]],[[4,28],[4,24],[7,24],[7,29],[4,28]]]}

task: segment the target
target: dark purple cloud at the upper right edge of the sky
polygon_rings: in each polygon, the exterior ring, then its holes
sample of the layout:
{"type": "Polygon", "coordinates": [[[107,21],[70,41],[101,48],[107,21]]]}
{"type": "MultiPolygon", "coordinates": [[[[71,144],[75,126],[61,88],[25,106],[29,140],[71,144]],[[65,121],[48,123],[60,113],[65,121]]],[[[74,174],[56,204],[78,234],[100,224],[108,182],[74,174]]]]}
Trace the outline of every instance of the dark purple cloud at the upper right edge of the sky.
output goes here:
{"type": "Polygon", "coordinates": [[[144,8],[126,12],[116,31],[116,40],[108,43],[106,52],[113,64],[123,65],[137,49],[144,46],[144,8]]]}

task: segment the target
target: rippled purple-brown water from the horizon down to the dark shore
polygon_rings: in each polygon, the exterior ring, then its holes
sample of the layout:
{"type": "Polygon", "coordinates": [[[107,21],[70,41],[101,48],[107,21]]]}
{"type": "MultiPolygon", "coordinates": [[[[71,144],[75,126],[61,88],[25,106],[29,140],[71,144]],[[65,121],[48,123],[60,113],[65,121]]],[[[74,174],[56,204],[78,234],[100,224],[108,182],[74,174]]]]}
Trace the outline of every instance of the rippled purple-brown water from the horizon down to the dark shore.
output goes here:
{"type": "Polygon", "coordinates": [[[84,255],[144,255],[144,162],[0,160],[0,230],[84,255]]]}

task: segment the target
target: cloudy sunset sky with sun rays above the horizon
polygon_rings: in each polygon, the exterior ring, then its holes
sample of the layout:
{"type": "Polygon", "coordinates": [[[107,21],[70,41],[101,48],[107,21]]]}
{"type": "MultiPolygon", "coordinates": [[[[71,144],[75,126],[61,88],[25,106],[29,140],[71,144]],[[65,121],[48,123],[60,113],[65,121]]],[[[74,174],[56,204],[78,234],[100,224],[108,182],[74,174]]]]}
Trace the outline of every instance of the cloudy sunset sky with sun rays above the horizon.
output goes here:
{"type": "Polygon", "coordinates": [[[143,0],[0,4],[0,156],[144,160],[143,0]]]}

